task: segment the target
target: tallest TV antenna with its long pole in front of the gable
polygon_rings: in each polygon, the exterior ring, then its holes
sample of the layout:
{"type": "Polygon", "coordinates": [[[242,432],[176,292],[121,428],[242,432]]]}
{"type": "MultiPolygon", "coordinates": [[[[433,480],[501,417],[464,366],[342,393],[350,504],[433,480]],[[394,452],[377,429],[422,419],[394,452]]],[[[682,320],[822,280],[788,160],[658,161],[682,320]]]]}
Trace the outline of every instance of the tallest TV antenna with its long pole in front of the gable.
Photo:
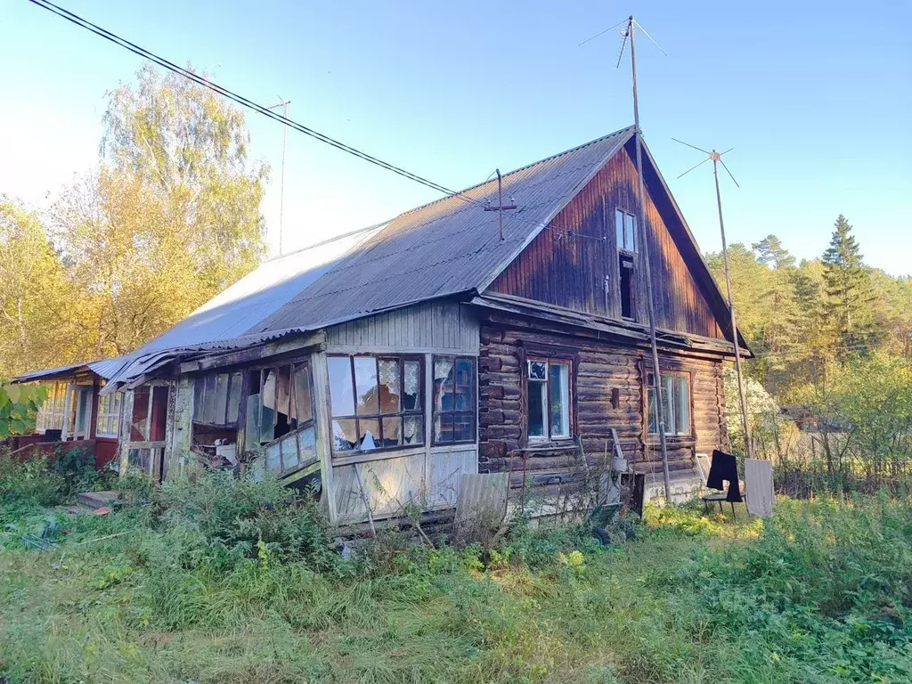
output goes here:
{"type": "Polygon", "coordinates": [[[652,377],[655,379],[656,391],[656,413],[658,414],[656,424],[658,425],[658,445],[662,455],[662,478],[665,484],[665,502],[671,503],[671,476],[668,473],[668,440],[665,433],[665,413],[662,407],[665,402],[662,397],[662,376],[661,369],[658,365],[658,344],[656,342],[656,302],[652,287],[652,268],[649,264],[649,232],[646,230],[646,190],[643,181],[643,131],[639,127],[639,97],[637,93],[637,47],[634,42],[634,34],[637,26],[648,37],[652,43],[658,47],[659,51],[668,57],[658,43],[649,36],[647,30],[640,26],[639,22],[633,15],[627,17],[625,21],[618,22],[615,26],[606,28],[595,36],[586,38],[580,45],[585,45],[590,40],[606,34],[614,28],[627,25],[624,29],[624,39],[621,42],[620,52],[617,54],[617,67],[621,65],[621,59],[624,57],[624,49],[627,47],[627,40],[630,41],[630,73],[633,85],[633,121],[634,137],[637,146],[637,225],[640,226],[640,243],[643,245],[643,265],[646,270],[646,298],[648,302],[647,310],[649,316],[649,347],[652,349],[652,377]]]}

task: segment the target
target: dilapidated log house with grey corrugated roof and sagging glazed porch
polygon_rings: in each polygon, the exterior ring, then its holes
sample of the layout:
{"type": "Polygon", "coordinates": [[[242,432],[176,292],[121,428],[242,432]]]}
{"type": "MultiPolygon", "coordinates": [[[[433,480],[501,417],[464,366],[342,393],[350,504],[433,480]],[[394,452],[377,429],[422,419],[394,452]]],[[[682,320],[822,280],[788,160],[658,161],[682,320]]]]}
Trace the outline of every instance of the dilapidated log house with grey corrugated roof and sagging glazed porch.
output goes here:
{"type": "Polygon", "coordinates": [[[627,128],[505,174],[502,216],[488,181],[263,264],[101,389],[123,394],[121,464],[306,480],[346,523],[450,508],[462,473],[559,487],[565,454],[597,457],[614,429],[649,490],[648,244],[669,467],[689,491],[695,454],[726,445],[733,331],[645,146],[641,214],[634,150],[627,128]]]}

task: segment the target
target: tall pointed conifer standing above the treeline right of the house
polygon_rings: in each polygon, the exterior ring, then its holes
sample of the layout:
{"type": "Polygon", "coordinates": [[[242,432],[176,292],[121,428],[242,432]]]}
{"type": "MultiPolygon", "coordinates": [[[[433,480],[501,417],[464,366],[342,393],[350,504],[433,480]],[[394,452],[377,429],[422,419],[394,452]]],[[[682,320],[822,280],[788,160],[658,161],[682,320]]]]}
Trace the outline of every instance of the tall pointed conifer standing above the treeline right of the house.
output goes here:
{"type": "Polygon", "coordinates": [[[852,226],[843,214],[836,219],[823,262],[824,314],[833,328],[836,357],[845,360],[865,351],[869,343],[874,293],[852,226]]]}

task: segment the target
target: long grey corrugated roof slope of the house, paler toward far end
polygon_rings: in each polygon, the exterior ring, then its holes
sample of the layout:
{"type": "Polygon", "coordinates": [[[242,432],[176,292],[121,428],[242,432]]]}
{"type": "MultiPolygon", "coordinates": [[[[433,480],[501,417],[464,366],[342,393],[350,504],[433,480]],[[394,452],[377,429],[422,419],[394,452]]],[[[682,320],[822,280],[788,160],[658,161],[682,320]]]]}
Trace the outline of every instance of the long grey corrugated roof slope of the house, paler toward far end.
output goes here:
{"type": "Polygon", "coordinates": [[[388,223],[347,233],[261,264],[254,272],[140,347],[117,381],[171,357],[249,347],[295,332],[487,285],[592,175],[633,136],[617,130],[503,175],[503,241],[497,181],[430,202],[388,223]]]}

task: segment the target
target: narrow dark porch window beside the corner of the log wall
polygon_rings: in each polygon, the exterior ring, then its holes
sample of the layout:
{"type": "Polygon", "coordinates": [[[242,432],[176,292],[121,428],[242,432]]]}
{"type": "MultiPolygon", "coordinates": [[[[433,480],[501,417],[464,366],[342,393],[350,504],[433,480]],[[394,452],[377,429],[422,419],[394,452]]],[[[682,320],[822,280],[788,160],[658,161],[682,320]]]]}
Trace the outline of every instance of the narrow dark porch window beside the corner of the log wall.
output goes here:
{"type": "Polygon", "coordinates": [[[475,359],[434,357],[434,444],[475,441],[475,359]]]}

